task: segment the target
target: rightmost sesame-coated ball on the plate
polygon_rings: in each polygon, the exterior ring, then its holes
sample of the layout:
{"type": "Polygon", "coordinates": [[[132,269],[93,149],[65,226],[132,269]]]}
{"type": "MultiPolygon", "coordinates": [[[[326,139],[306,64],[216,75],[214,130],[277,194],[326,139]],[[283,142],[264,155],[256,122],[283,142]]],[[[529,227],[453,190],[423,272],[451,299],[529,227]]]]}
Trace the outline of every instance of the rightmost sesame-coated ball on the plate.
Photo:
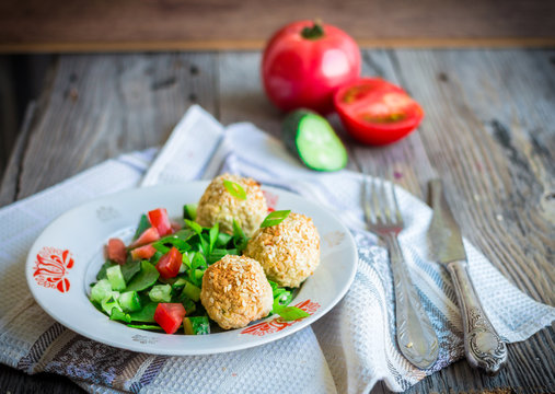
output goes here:
{"type": "Polygon", "coordinates": [[[291,212],[281,223],[258,229],[243,254],[258,260],[269,280],[294,288],[320,264],[320,235],[312,219],[291,212]]]}

